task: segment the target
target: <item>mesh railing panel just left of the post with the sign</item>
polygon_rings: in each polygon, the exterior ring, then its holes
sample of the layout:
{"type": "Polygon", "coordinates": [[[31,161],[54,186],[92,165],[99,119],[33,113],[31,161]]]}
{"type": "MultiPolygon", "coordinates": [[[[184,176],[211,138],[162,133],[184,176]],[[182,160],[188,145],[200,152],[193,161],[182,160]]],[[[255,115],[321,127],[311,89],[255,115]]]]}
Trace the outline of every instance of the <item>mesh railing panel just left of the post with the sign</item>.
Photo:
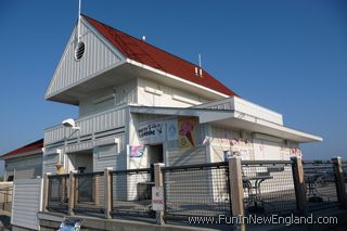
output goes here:
{"type": "Polygon", "coordinates": [[[151,168],[111,171],[112,214],[154,217],[151,168]]]}

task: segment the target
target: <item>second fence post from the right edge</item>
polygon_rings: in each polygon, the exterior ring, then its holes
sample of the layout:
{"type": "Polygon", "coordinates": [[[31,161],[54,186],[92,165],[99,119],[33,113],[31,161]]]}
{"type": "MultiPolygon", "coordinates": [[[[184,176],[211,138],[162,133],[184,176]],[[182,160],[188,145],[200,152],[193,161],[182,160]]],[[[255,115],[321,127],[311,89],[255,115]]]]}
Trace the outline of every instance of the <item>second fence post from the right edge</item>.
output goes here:
{"type": "Polygon", "coordinates": [[[304,180],[304,168],[301,156],[293,156],[292,159],[292,174],[295,189],[296,209],[298,214],[306,211],[306,192],[304,180]]]}

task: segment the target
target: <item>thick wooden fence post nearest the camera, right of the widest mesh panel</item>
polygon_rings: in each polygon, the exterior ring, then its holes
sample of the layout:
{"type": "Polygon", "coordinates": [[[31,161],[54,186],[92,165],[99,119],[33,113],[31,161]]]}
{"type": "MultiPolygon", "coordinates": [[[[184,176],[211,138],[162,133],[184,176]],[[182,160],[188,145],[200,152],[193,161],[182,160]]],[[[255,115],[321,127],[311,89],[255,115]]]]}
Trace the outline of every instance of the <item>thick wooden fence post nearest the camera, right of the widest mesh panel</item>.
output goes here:
{"type": "Polygon", "coordinates": [[[242,182],[242,166],[240,156],[232,156],[229,159],[229,180],[230,180],[230,200],[231,211],[233,217],[242,218],[239,223],[234,223],[234,230],[244,231],[245,223],[243,223],[244,217],[244,204],[243,204],[243,182],[242,182]]]}

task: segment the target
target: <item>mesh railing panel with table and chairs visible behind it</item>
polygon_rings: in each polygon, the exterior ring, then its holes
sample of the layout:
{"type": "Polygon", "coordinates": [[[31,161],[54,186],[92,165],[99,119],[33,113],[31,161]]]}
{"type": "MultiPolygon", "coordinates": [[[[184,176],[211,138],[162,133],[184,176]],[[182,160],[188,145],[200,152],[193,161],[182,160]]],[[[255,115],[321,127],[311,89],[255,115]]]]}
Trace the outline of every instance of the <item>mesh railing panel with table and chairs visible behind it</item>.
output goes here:
{"type": "Polygon", "coordinates": [[[291,161],[243,161],[245,214],[290,214],[296,209],[291,161]]]}

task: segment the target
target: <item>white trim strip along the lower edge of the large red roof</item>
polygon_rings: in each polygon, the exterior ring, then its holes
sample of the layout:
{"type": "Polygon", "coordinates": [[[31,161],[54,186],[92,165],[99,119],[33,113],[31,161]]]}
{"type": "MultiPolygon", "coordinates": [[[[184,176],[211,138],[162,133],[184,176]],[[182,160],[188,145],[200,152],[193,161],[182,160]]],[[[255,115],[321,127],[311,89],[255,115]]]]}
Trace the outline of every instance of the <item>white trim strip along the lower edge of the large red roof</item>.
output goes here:
{"type": "Polygon", "coordinates": [[[129,57],[126,59],[126,62],[129,63],[129,64],[132,64],[132,65],[134,65],[134,66],[139,66],[139,67],[142,67],[142,68],[144,68],[144,69],[147,69],[147,70],[157,73],[157,74],[159,74],[159,75],[166,76],[166,77],[168,77],[168,78],[170,78],[170,79],[184,82],[184,84],[190,85],[190,86],[195,87],[195,88],[203,89],[203,90],[205,90],[205,91],[208,91],[208,92],[210,92],[210,93],[217,94],[217,95],[219,95],[219,97],[223,97],[223,98],[229,98],[229,97],[230,97],[230,95],[220,93],[220,92],[218,92],[218,91],[215,91],[215,90],[213,90],[213,89],[206,88],[206,87],[204,87],[204,86],[201,86],[201,85],[191,82],[191,81],[185,80],[185,79],[183,79],[183,78],[181,78],[181,77],[178,77],[178,76],[171,75],[171,74],[169,74],[169,73],[166,73],[166,72],[156,69],[156,68],[154,68],[154,67],[152,67],[152,66],[142,64],[142,63],[137,62],[137,61],[134,61],[134,60],[130,60],[129,57]]]}

